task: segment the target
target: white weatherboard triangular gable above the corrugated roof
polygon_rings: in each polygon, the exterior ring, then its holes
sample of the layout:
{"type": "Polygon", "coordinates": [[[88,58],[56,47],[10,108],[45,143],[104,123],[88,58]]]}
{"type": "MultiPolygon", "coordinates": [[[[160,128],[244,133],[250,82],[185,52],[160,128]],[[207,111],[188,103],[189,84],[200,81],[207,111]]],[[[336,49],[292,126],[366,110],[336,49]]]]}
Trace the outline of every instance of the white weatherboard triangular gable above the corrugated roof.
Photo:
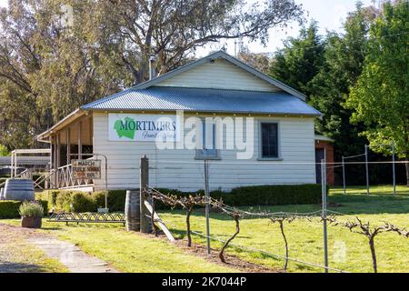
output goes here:
{"type": "Polygon", "coordinates": [[[206,63],[165,80],[157,86],[234,89],[250,91],[281,91],[274,85],[252,75],[224,59],[206,63]]]}

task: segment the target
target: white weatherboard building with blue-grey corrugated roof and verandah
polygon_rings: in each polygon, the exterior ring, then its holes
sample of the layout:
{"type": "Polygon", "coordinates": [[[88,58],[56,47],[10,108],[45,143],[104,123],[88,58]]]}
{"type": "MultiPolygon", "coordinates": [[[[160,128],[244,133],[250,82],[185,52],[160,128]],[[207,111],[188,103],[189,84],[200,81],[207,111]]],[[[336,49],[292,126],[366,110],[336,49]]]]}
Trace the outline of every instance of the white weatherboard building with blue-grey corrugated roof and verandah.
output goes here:
{"type": "Polygon", "coordinates": [[[219,51],[83,105],[38,139],[51,144],[58,188],[137,188],[144,155],[154,187],[203,189],[205,157],[211,189],[314,184],[318,115],[301,93],[219,51]],[[78,158],[101,159],[101,178],[74,179],[78,158]]]}

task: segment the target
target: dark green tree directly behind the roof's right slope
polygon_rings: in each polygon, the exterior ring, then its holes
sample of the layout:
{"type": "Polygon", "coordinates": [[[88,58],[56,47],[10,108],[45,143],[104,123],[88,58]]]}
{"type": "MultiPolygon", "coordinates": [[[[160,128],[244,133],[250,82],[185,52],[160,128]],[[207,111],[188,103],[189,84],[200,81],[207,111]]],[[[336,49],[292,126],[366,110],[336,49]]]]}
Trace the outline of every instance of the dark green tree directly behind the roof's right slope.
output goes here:
{"type": "Polygon", "coordinates": [[[313,21],[296,38],[284,42],[284,49],[274,55],[269,75],[294,89],[311,95],[309,83],[324,63],[324,43],[318,35],[318,24],[313,21]]]}

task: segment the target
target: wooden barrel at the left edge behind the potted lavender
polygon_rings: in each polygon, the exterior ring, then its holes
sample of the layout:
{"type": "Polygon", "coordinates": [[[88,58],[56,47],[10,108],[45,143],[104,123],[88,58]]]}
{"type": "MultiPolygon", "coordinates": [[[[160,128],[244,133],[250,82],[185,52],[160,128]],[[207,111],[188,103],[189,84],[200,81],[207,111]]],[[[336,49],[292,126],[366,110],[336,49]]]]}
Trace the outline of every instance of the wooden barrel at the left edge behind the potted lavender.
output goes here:
{"type": "Polygon", "coordinates": [[[5,189],[3,191],[5,200],[35,200],[33,180],[7,179],[5,181],[5,189]]]}

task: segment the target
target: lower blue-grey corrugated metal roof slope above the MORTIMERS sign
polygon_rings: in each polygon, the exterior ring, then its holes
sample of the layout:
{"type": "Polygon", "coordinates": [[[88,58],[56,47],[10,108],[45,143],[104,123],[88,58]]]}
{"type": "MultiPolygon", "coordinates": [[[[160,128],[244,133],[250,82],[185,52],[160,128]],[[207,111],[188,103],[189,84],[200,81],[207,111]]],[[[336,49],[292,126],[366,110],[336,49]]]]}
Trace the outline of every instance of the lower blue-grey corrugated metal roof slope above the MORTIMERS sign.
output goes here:
{"type": "Polygon", "coordinates": [[[148,87],[127,89],[81,107],[86,110],[195,111],[218,113],[320,115],[286,93],[224,89],[148,87]]]}

